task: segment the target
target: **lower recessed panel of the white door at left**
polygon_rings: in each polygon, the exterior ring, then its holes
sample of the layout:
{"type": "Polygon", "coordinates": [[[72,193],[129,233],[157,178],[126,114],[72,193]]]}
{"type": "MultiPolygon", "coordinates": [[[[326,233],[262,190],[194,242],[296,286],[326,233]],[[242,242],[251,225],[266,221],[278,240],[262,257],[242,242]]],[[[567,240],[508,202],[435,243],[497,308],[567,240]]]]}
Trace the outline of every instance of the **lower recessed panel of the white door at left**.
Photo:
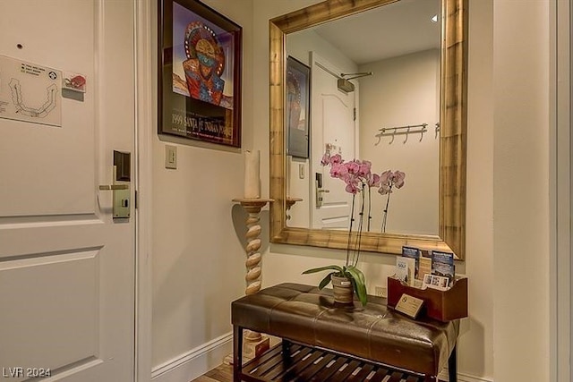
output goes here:
{"type": "Polygon", "coordinates": [[[0,293],[0,306],[9,308],[3,310],[3,320],[17,323],[0,327],[3,342],[13,344],[8,346],[11,352],[2,353],[3,365],[29,360],[30,365],[56,369],[98,354],[98,252],[51,253],[0,263],[0,290],[18,291],[0,293]],[[18,345],[26,338],[34,339],[33,347],[18,345]]]}

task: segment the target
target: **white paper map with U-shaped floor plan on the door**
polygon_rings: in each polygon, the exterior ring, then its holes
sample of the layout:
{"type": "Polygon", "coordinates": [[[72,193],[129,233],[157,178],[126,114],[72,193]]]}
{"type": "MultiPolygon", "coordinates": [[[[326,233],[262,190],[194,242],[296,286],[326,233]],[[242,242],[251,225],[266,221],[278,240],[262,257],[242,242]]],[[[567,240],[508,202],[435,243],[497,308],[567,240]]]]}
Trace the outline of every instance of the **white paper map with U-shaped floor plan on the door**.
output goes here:
{"type": "Polygon", "coordinates": [[[0,55],[0,118],[62,126],[62,72],[0,55]]]}

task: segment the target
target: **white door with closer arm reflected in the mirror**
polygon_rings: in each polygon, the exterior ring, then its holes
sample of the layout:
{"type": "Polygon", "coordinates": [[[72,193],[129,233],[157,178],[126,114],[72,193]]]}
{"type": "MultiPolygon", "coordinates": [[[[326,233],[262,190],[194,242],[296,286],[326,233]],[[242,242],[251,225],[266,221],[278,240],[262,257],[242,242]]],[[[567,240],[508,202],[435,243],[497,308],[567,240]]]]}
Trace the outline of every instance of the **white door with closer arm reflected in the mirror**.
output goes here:
{"type": "Polygon", "coordinates": [[[339,90],[332,72],[339,73],[312,54],[312,228],[347,229],[352,197],[345,183],[330,177],[330,167],[321,166],[321,158],[326,150],[345,161],[355,158],[355,93],[339,90]]]}

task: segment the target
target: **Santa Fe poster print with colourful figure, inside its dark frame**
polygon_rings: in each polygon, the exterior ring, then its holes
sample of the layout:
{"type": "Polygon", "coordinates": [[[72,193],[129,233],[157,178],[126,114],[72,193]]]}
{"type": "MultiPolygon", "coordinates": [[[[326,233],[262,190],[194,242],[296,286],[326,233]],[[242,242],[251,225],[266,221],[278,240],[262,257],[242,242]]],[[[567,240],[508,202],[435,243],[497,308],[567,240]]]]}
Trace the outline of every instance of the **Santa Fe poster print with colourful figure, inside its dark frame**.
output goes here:
{"type": "Polygon", "coordinates": [[[233,142],[234,49],[231,33],[174,2],[173,92],[192,98],[171,110],[179,132],[233,142]]]}

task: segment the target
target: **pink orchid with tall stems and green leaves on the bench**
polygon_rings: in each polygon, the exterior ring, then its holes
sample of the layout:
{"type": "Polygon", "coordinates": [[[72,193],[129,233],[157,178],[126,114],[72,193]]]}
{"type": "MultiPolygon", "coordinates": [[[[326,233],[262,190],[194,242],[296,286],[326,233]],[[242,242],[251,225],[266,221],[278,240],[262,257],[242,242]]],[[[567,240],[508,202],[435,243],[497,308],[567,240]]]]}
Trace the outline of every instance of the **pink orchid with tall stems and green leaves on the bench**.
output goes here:
{"type": "Polygon", "coordinates": [[[348,242],[346,243],[346,260],[345,265],[342,267],[338,265],[316,267],[304,271],[303,274],[308,275],[329,270],[329,274],[319,283],[319,289],[330,283],[331,276],[346,277],[351,281],[358,299],[365,305],[367,301],[366,283],[363,272],[356,265],[360,258],[363,225],[366,225],[366,231],[370,231],[370,222],[372,220],[371,191],[372,189],[378,189],[381,195],[388,195],[382,220],[382,232],[384,232],[386,229],[386,217],[388,216],[389,194],[394,188],[400,189],[404,186],[406,174],[400,171],[392,172],[389,170],[381,174],[375,174],[372,173],[371,162],[358,159],[345,162],[339,154],[330,156],[329,150],[322,157],[321,165],[330,166],[330,176],[344,182],[346,184],[346,192],[352,194],[350,226],[348,228],[348,242]],[[356,198],[357,196],[358,198],[356,198]],[[355,209],[358,212],[358,222],[355,222],[355,209]],[[356,231],[354,235],[352,234],[353,229],[356,231]]]}

